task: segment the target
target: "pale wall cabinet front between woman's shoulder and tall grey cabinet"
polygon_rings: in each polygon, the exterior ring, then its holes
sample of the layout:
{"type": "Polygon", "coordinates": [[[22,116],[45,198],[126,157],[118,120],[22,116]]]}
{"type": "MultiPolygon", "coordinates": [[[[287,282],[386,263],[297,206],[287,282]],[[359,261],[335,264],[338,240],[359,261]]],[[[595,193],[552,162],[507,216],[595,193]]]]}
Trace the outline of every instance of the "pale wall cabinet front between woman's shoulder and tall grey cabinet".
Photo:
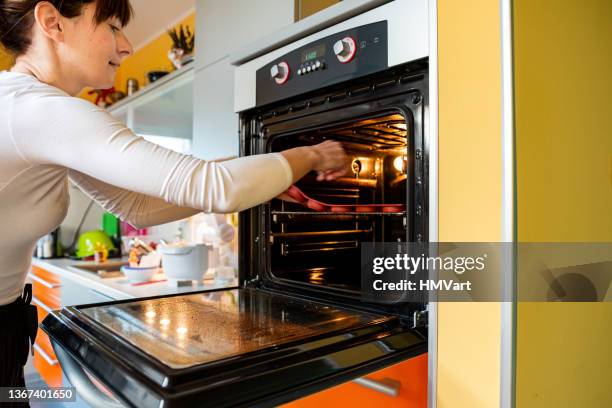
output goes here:
{"type": "Polygon", "coordinates": [[[158,79],[107,110],[139,135],[191,140],[193,64],[158,79]]]}

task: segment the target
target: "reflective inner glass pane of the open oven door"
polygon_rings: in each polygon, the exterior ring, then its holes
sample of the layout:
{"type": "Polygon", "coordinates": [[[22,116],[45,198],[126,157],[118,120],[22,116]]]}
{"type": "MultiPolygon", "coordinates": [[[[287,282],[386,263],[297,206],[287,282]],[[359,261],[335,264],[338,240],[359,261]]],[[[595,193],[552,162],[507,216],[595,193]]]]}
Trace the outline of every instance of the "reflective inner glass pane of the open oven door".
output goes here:
{"type": "Polygon", "coordinates": [[[81,311],[171,368],[389,319],[250,289],[84,307],[81,311]]]}

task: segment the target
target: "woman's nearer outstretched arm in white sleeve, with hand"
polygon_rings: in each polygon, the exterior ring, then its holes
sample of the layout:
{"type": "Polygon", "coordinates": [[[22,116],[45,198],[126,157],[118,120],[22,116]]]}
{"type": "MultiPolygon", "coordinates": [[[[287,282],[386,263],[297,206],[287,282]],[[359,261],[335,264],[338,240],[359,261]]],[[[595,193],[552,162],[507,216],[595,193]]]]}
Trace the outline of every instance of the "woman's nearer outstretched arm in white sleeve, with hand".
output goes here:
{"type": "Polygon", "coordinates": [[[25,160],[63,166],[179,207],[240,211],[278,196],[311,170],[333,177],[346,167],[342,148],[334,142],[204,161],[149,143],[105,110],[57,88],[41,84],[20,93],[11,118],[25,160]]]}

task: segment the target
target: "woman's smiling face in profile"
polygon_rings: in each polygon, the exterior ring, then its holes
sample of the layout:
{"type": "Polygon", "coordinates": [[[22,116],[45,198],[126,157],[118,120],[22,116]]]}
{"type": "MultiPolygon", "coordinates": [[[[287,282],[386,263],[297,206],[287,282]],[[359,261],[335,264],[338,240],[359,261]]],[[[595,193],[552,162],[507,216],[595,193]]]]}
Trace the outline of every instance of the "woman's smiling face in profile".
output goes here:
{"type": "Polygon", "coordinates": [[[81,15],[67,19],[64,42],[58,49],[61,63],[68,63],[80,80],[95,89],[114,85],[119,64],[132,53],[118,18],[94,20],[95,2],[83,6],[81,15]]]}

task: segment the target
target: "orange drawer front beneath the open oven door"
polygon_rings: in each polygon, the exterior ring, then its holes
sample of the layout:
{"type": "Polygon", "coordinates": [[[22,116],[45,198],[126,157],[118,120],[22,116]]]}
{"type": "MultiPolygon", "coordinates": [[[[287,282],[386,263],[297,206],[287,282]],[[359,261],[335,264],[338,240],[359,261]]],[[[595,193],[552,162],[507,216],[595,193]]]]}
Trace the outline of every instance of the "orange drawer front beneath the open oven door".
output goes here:
{"type": "Polygon", "coordinates": [[[385,378],[399,381],[401,384],[399,395],[390,397],[359,384],[348,382],[292,401],[283,405],[283,408],[427,407],[427,354],[376,371],[367,377],[378,381],[385,378]]]}

